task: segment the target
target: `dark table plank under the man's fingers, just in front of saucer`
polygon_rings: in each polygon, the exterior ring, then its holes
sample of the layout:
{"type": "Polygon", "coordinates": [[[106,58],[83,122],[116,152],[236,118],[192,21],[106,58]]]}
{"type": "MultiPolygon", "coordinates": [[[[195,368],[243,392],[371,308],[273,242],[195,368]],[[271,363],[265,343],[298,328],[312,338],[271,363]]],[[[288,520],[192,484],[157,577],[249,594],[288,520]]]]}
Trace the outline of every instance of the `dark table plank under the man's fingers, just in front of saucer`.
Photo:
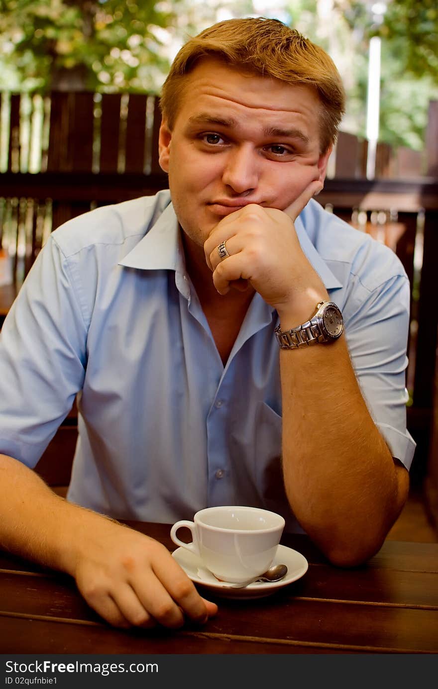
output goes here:
{"type": "MultiPolygon", "coordinates": [[[[208,597],[215,599],[210,593],[208,597]]],[[[99,623],[70,577],[1,573],[0,601],[6,615],[99,623]]],[[[295,597],[294,584],[252,601],[251,606],[246,601],[216,601],[221,614],[203,626],[204,633],[216,637],[266,645],[290,642],[370,652],[438,652],[438,610],[300,599],[295,597]]]]}

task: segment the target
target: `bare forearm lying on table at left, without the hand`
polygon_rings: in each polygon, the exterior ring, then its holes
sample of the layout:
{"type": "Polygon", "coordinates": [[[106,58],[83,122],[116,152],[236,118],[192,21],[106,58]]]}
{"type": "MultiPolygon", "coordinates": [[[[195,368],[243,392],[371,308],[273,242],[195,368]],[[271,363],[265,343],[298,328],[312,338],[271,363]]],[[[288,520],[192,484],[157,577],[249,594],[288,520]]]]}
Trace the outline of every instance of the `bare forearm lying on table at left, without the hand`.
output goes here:
{"type": "Polygon", "coordinates": [[[0,547],[74,575],[77,549],[106,517],[68,503],[27,466],[0,455],[0,547]]]}

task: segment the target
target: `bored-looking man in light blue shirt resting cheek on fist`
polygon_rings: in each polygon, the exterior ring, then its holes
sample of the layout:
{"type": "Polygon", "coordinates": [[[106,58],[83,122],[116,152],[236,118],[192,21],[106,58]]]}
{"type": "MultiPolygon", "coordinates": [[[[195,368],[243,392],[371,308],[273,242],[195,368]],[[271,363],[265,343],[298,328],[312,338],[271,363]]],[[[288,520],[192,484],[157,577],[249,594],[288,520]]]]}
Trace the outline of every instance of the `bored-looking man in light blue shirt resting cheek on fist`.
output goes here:
{"type": "Polygon", "coordinates": [[[54,232],[6,319],[1,544],[70,573],[111,624],[217,608],[102,515],[259,505],[351,566],[406,500],[408,281],[312,200],[343,109],[330,58],[279,21],[204,31],[163,88],[170,195],[54,232]],[[66,502],[30,468],[77,393],[66,502]]]}

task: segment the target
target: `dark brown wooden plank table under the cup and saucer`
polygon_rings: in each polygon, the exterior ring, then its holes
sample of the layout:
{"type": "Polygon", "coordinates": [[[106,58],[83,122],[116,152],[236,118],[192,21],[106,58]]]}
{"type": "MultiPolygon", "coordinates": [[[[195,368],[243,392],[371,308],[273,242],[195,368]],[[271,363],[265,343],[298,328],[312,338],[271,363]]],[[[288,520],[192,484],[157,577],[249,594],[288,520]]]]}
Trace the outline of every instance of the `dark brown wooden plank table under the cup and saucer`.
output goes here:
{"type": "MultiPolygon", "coordinates": [[[[130,522],[170,550],[168,524],[130,522]]],[[[270,597],[217,599],[202,627],[122,631],[66,575],[0,553],[0,653],[437,653],[438,544],[387,541],[367,566],[330,566],[308,537],[286,535],[307,573],[270,597]]],[[[204,594],[205,595],[205,594],[204,594]]]]}

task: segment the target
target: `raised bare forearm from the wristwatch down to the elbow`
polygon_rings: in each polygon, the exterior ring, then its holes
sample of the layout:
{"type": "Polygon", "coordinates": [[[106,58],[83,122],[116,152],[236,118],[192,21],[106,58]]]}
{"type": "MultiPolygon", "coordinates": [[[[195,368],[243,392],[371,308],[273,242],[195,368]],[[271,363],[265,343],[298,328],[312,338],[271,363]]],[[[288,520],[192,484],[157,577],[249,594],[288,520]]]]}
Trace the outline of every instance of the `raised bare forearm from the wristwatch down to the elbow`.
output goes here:
{"type": "Polygon", "coordinates": [[[406,499],[343,338],[281,351],[283,475],[292,510],[337,564],[377,551],[406,499]]]}

